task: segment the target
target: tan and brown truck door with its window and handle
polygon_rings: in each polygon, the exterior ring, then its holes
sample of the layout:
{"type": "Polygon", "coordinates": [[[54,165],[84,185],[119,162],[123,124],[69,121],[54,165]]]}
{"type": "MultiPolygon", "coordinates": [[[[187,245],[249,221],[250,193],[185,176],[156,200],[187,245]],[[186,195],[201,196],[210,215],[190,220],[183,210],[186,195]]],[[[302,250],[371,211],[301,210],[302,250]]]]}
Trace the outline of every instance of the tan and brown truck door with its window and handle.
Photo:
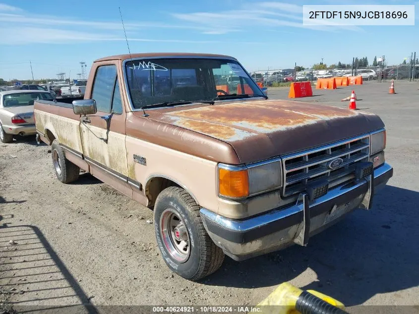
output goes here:
{"type": "Polygon", "coordinates": [[[90,98],[96,101],[97,113],[82,117],[80,123],[83,155],[91,165],[90,172],[131,196],[132,188],[127,184],[126,114],[116,64],[97,67],[90,98]]]}

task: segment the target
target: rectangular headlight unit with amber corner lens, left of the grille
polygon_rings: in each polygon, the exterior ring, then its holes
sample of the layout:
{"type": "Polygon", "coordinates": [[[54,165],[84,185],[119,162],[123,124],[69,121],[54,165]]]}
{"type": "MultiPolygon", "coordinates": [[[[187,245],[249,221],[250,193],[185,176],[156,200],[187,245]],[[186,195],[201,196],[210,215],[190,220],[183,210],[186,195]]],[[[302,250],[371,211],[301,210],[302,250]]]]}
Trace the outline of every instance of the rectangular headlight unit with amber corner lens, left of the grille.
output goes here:
{"type": "Polygon", "coordinates": [[[282,186],[281,159],[246,166],[218,165],[219,193],[226,197],[246,197],[282,186]]]}

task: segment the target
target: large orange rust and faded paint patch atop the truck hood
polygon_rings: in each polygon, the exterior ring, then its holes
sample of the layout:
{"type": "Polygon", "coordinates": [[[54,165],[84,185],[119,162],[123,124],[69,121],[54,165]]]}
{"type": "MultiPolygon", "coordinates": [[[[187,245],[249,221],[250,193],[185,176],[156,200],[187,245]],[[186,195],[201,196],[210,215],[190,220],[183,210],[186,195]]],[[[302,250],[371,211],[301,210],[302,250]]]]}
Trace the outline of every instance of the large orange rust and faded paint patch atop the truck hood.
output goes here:
{"type": "Polygon", "coordinates": [[[165,113],[162,118],[169,118],[176,126],[235,141],[257,133],[271,133],[356,115],[358,113],[335,107],[271,100],[176,110],[165,113]]]}

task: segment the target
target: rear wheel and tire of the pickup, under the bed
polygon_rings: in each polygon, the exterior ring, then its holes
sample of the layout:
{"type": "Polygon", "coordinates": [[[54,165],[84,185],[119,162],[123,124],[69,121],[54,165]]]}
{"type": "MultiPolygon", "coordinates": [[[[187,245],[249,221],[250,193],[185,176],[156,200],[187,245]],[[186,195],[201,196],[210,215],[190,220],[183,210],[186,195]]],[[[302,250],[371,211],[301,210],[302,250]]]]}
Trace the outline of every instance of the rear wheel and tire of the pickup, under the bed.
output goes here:
{"type": "Polygon", "coordinates": [[[53,158],[54,172],[57,179],[62,183],[76,181],[80,175],[80,168],[65,158],[58,140],[54,140],[51,145],[51,155],[53,158]]]}

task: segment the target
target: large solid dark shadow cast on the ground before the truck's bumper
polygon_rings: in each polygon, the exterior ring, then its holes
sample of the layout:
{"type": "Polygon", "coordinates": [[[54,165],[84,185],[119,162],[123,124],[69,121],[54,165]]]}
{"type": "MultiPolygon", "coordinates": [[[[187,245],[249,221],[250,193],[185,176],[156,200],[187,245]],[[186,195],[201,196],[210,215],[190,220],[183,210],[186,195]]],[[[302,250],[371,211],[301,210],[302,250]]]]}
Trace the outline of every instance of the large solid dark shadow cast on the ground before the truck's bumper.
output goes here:
{"type": "MultiPolygon", "coordinates": [[[[370,211],[358,210],[310,239],[242,262],[226,258],[209,285],[252,288],[290,281],[314,271],[314,289],[346,306],[364,303],[376,294],[419,285],[419,192],[386,186],[375,195],[370,211]]],[[[397,295],[395,296],[397,298],[397,295]]]]}

